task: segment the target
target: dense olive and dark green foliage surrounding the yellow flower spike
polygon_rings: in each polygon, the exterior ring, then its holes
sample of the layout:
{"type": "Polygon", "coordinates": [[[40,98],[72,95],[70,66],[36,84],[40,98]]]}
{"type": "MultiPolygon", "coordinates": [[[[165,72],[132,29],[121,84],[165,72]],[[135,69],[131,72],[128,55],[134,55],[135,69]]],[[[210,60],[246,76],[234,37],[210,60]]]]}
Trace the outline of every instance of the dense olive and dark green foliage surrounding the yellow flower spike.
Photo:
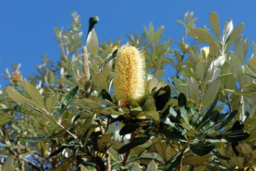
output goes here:
{"type": "Polygon", "coordinates": [[[255,170],[256,46],[245,61],[243,23],[227,21],[221,35],[215,12],[210,30],[187,11],[177,48],[152,23],[129,35],[147,61],[147,92],[122,105],[112,87],[119,41],[98,44],[92,16],[81,53],[80,18],[72,18],[69,30],[55,28],[58,63],[43,56],[27,79],[18,65],[6,70],[2,170],[255,170]],[[176,75],[165,73],[168,64],[176,75]]]}

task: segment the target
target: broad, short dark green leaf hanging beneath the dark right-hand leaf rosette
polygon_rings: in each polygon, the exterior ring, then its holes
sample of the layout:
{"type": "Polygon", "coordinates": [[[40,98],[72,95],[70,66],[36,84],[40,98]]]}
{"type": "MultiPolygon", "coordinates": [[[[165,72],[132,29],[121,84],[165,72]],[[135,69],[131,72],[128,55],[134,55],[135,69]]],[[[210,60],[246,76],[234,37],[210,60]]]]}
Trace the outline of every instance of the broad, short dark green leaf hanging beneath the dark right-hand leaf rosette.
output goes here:
{"type": "Polygon", "coordinates": [[[196,144],[191,144],[190,149],[198,156],[204,156],[210,153],[214,148],[212,143],[199,142],[196,144]]]}

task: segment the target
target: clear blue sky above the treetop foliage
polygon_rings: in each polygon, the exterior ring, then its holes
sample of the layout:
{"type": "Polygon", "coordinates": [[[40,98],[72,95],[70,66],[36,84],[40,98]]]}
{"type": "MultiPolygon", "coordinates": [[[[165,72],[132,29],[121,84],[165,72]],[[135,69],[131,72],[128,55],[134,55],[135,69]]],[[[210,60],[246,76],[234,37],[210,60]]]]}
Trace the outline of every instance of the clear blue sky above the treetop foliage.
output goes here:
{"type": "MultiPolygon", "coordinates": [[[[81,16],[82,29],[87,31],[88,18],[98,15],[96,31],[100,41],[126,39],[127,34],[143,32],[142,25],[153,22],[165,25],[164,39],[180,40],[184,29],[177,22],[187,9],[198,16],[197,25],[209,27],[208,14],[216,11],[223,26],[230,17],[234,26],[245,23],[244,36],[256,41],[256,3],[254,1],[85,1],[85,0],[1,0],[0,1],[0,73],[11,63],[22,63],[25,75],[35,72],[41,55],[57,61],[60,49],[55,40],[54,27],[71,24],[71,13],[81,16]]],[[[83,40],[85,42],[85,40],[83,40]]],[[[251,46],[250,46],[251,48],[251,46]]],[[[251,54],[251,50],[249,51],[251,54]]],[[[3,76],[0,77],[0,83],[3,76]]]]}

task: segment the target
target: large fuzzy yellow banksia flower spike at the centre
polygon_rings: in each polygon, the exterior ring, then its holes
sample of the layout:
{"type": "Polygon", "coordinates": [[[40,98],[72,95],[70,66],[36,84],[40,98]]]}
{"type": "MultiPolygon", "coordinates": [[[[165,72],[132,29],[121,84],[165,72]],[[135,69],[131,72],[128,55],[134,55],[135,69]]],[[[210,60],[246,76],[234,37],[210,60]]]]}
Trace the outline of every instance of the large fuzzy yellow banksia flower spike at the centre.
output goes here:
{"type": "Polygon", "coordinates": [[[145,58],[136,47],[125,44],[118,49],[114,72],[115,97],[128,106],[130,99],[144,96],[145,58]]]}

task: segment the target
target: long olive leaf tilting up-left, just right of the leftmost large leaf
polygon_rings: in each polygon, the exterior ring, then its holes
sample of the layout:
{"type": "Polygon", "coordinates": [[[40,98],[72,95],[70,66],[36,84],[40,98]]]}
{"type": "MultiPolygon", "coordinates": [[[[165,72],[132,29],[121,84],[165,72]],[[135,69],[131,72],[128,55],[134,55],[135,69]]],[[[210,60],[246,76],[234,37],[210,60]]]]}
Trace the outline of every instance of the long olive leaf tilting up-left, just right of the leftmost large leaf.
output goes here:
{"type": "Polygon", "coordinates": [[[40,94],[40,92],[34,87],[34,85],[30,84],[29,82],[26,82],[24,80],[20,80],[20,85],[24,88],[25,92],[29,94],[30,98],[37,103],[37,105],[41,106],[41,108],[46,108],[44,105],[43,98],[40,94]]]}

